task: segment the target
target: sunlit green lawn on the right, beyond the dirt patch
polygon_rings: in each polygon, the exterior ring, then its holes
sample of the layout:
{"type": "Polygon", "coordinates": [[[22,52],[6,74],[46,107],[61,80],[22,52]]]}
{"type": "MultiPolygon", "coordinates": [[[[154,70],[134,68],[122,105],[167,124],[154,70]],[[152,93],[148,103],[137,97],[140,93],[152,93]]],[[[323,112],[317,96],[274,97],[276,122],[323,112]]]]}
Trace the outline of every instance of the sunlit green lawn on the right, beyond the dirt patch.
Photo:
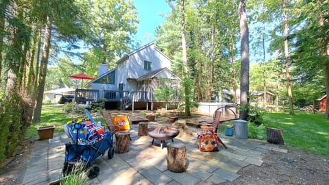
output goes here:
{"type": "Polygon", "coordinates": [[[329,120],[323,114],[296,111],[265,114],[265,125],[282,130],[284,143],[311,153],[329,154],[329,120]]]}

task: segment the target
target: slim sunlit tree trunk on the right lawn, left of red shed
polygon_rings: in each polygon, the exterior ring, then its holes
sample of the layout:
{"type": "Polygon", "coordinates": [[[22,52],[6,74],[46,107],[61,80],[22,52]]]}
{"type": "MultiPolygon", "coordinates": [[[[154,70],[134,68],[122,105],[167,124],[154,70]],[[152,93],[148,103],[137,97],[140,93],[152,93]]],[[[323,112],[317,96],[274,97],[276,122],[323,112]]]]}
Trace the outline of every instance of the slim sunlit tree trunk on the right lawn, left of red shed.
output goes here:
{"type": "Polygon", "coordinates": [[[288,15],[286,12],[286,1],[282,0],[282,3],[283,3],[283,19],[284,19],[284,63],[286,64],[286,74],[287,74],[289,114],[294,115],[295,113],[293,112],[293,90],[291,89],[290,72],[289,72],[288,15]]]}

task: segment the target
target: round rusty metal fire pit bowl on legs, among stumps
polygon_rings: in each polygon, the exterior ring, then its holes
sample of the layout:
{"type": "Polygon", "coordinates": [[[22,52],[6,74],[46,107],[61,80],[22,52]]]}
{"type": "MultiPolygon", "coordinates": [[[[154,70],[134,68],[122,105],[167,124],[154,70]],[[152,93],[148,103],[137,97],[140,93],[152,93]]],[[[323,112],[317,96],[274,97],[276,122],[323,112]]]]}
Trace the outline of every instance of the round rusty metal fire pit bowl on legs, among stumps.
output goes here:
{"type": "Polygon", "coordinates": [[[164,140],[171,139],[171,141],[173,142],[173,138],[175,138],[175,136],[178,136],[178,134],[180,134],[180,131],[175,127],[165,125],[149,127],[147,129],[147,134],[149,134],[149,136],[153,138],[151,145],[153,145],[154,139],[157,139],[161,141],[161,149],[163,149],[164,140]]]}

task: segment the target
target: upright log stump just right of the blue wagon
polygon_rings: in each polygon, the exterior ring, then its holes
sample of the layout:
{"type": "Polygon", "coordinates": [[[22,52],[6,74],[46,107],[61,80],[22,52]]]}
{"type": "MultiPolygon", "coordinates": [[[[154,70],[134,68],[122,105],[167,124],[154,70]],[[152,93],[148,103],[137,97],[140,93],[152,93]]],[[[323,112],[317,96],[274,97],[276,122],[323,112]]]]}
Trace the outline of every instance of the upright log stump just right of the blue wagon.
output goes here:
{"type": "Polygon", "coordinates": [[[129,151],[130,132],[121,131],[115,133],[115,153],[125,153],[129,151]]]}

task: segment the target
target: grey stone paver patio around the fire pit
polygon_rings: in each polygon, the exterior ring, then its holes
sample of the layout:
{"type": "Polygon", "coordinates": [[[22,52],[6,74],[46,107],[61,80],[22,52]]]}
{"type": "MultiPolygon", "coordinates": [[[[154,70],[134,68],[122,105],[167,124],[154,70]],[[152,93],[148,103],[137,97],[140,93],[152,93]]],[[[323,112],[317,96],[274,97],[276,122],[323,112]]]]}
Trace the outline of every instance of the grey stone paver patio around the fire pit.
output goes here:
{"type": "MultiPolygon", "coordinates": [[[[168,122],[150,122],[149,127],[164,123],[168,122]]],[[[219,134],[219,137],[228,149],[220,145],[218,152],[200,152],[197,137],[182,134],[173,140],[186,145],[188,166],[186,172],[173,173],[167,170],[167,148],[151,145],[149,136],[137,136],[138,124],[132,125],[132,129],[130,150],[127,153],[115,153],[110,160],[107,152],[99,156],[93,164],[99,165],[100,173],[93,180],[88,180],[88,183],[219,184],[239,178],[240,175],[236,173],[247,165],[263,164],[264,154],[269,150],[287,153],[287,149],[262,140],[239,140],[223,134],[219,134]]],[[[58,180],[62,175],[64,143],[69,141],[70,138],[65,134],[55,134],[50,140],[37,140],[22,184],[47,184],[58,180]]],[[[171,143],[171,140],[166,140],[166,143],[171,143]]]]}

